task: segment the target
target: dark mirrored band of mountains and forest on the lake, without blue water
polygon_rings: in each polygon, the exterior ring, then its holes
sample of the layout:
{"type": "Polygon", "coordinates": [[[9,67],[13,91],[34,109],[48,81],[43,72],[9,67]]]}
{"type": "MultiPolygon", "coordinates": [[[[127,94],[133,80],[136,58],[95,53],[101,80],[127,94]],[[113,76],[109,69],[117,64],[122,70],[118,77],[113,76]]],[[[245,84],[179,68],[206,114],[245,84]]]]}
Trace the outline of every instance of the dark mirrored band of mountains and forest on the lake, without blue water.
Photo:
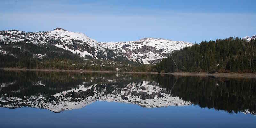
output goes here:
{"type": "Polygon", "coordinates": [[[153,74],[0,71],[0,107],[83,108],[95,101],[145,108],[199,105],[255,115],[255,79],[153,74]]]}

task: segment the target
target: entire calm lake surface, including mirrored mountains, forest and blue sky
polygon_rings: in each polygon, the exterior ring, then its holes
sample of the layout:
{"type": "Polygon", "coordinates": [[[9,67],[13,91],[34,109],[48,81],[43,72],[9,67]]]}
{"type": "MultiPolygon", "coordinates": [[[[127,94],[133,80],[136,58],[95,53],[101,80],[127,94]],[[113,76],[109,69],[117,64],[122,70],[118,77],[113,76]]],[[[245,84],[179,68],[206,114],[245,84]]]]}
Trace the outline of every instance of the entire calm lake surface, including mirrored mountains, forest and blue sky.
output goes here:
{"type": "Polygon", "coordinates": [[[0,70],[0,127],[256,127],[256,79],[0,70]]]}

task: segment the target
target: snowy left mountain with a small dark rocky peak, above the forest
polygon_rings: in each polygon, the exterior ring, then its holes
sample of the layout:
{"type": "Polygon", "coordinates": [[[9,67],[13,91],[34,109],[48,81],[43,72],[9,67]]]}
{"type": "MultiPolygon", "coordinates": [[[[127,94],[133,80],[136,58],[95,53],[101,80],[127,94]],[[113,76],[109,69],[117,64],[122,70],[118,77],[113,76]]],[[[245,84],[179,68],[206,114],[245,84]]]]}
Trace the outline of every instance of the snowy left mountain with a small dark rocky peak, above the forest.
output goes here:
{"type": "Polygon", "coordinates": [[[104,51],[97,41],[88,36],[82,33],[69,32],[62,28],[46,32],[0,31],[0,41],[4,44],[15,42],[38,45],[52,44],[82,57],[90,56],[94,59],[98,59],[98,51],[104,51]]]}

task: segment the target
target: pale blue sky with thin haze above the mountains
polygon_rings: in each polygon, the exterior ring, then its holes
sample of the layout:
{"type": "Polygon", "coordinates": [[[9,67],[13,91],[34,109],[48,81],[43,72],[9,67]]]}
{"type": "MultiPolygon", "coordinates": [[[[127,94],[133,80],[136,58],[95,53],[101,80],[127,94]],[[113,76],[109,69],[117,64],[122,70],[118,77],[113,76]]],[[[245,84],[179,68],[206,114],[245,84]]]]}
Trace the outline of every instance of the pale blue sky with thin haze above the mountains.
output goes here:
{"type": "Polygon", "coordinates": [[[0,30],[63,28],[99,41],[200,43],[256,35],[255,0],[0,0],[0,30]]]}

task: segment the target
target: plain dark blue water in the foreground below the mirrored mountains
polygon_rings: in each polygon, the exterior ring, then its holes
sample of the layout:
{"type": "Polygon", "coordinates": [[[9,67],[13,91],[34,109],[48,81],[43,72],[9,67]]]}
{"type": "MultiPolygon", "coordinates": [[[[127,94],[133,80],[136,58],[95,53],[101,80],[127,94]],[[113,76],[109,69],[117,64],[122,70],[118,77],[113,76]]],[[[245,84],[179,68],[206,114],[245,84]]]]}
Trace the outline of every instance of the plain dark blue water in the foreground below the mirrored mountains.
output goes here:
{"type": "Polygon", "coordinates": [[[255,127],[256,117],[198,106],[142,108],[97,101],[81,109],[52,113],[38,108],[0,108],[1,126],[12,127],[255,127]]]}

